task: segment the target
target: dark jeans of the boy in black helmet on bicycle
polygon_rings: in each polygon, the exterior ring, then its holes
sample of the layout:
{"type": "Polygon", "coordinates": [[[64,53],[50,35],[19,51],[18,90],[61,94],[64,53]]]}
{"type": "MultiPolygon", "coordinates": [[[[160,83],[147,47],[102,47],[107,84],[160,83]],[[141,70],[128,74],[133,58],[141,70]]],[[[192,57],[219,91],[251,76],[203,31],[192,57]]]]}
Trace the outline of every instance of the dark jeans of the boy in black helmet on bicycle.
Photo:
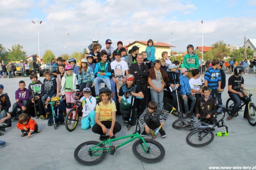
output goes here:
{"type": "MultiPolygon", "coordinates": [[[[240,97],[238,94],[236,93],[229,93],[228,94],[229,97],[234,101],[234,106],[232,107],[232,110],[230,111],[230,116],[234,117],[234,115],[236,114],[236,112],[238,111],[240,104],[241,104],[241,100],[243,100],[245,103],[249,102],[249,97],[248,96],[244,96],[244,97],[240,97]]],[[[244,108],[244,118],[247,117],[247,111],[248,111],[248,106],[246,104],[245,108],[244,108]]]]}

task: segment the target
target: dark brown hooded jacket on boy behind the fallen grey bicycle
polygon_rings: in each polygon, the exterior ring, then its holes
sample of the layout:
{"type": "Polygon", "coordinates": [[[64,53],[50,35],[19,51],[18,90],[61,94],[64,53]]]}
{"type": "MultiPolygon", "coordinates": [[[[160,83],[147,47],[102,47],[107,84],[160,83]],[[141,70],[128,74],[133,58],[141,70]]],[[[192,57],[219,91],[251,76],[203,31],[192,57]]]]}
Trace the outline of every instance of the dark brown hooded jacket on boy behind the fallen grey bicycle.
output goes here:
{"type": "Polygon", "coordinates": [[[209,96],[207,101],[204,100],[204,95],[199,98],[196,103],[196,114],[199,114],[202,117],[206,117],[207,115],[215,115],[216,113],[216,104],[215,100],[212,98],[212,95],[209,96]]]}

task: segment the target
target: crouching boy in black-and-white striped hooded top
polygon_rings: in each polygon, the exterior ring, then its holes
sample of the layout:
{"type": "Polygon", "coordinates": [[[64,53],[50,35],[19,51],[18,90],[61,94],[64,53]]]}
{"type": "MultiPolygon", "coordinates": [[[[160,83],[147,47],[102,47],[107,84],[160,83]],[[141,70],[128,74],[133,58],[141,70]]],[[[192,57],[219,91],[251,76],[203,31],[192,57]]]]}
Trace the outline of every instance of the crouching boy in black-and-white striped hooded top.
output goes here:
{"type": "MultiPolygon", "coordinates": [[[[144,126],[144,130],[140,136],[145,137],[146,134],[150,133],[150,129],[154,130],[160,125],[163,127],[168,114],[169,112],[167,110],[157,108],[157,103],[155,101],[150,101],[148,103],[148,108],[143,111],[139,118],[140,123],[144,126]],[[164,117],[160,120],[160,115],[162,114],[164,114],[164,117]]],[[[162,138],[166,137],[163,128],[159,130],[159,133],[162,138]]]]}

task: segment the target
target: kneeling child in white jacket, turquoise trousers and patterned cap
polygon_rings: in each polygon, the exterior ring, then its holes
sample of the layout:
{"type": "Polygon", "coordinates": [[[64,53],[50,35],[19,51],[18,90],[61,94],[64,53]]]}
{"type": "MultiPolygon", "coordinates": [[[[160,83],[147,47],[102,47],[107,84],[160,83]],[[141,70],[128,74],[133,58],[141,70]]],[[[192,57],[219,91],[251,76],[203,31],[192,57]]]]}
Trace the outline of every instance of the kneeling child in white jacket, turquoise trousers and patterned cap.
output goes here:
{"type": "Polygon", "coordinates": [[[84,96],[79,100],[83,106],[83,115],[81,118],[81,128],[89,129],[95,124],[95,107],[96,99],[92,96],[92,91],[90,88],[86,87],[83,89],[84,96]]]}

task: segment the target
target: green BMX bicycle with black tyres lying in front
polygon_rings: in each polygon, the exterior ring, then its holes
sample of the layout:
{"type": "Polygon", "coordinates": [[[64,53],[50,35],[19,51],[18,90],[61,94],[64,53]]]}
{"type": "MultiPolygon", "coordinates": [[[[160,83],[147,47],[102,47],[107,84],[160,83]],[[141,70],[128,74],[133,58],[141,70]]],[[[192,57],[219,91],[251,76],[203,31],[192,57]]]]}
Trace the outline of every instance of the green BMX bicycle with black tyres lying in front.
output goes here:
{"type": "MultiPolygon", "coordinates": [[[[135,114],[137,115],[137,109],[135,109],[135,114]]],[[[108,135],[101,136],[103,142],[98,141],[87,141],[76,147],[74,152],[74,157],[76,161],[82,165],[91,166],[99,164],[106,157],[107,153],[114,155],[116,150],[125,144],[128,144],[132,140],[139,138],[132,145],[132,153],[134,156],[146,163],[156,163],[164,159],[165,150],[164,147],[155,140],[144,139],[140,136],[140,125],[138,116],[136,131],[132,135],[127,135],[123,137],[117,137],[114,139],[109,139],[108,135]],[[139,130],[137,130],[139,127],[139,130]],[[111,142],[117,141],[119,139],[130,138],[127,141],[118,144],[112,145],[111,142]],[[105,141],[104,141],[105,140],[105,141]],[[108,145],[108,146],[106,146],[108,145]]]]}

